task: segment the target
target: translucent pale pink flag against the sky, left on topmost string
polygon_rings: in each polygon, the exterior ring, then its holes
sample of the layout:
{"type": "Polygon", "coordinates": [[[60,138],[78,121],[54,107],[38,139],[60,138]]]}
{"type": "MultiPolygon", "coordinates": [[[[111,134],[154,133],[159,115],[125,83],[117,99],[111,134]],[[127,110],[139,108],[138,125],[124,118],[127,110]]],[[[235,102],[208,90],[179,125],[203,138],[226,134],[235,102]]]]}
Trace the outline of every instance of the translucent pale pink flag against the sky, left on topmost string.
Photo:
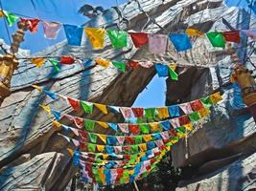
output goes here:
{"type": "Polygon", "coordinates": [[[48,39],[57,39],[58,32],[61,30],[61,24],[57,22],[43,21],[44,37],[48,39]]]}

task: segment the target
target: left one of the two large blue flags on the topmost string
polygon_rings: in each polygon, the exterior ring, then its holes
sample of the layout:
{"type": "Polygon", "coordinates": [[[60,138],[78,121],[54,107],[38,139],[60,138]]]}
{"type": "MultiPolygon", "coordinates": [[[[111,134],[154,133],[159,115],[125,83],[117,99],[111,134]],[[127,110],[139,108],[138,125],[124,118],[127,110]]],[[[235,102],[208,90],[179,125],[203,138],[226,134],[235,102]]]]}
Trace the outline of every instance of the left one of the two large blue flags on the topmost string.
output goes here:
{"type": "Polygon", "coordinates": [[[66,33],[68,45],[81,46],[81,36],[83,29],[80,26],[63,25],[66,33]]]}

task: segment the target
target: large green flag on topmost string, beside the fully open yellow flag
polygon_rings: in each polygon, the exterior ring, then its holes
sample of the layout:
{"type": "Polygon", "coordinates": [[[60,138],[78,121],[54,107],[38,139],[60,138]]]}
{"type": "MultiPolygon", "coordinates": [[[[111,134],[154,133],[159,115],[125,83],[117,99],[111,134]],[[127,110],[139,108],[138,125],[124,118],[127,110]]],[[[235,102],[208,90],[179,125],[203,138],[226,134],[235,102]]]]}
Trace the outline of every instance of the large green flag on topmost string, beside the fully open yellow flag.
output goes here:
{"type": "Polygon", "coordinates": [[[128,32],[122,31],[107,31],[107,35],[116,49],[121,49],[128,46],[128,32]]]}

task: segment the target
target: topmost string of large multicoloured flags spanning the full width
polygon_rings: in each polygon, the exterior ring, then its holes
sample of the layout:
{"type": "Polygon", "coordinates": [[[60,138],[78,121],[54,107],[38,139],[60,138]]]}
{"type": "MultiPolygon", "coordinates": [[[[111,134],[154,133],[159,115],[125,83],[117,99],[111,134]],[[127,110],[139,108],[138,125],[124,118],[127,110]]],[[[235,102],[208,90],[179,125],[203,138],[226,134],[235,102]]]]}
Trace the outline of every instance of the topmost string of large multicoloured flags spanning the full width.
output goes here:
{"type": "Polygon", "coordinates": [[[185,32],[179,33],[153,34],[146,32],[105,31],[105,29],[102,28],[84,28],[81,26],[48,22],[36,18],[19,18],[9,11],[0,11],[0,16],[5,16],[10,26],[18,19],[26,22],[31,32],[37,32],[38,25],[42,22],[44,36],[49,39],[57,38],[61,26],[63,26],[67,42],[71,46],[81,46],[82,34],[85,32],[93,49],[103,49],[105,47],[106,34],[115,49],[128,47],[128,36],[130,36],[135,48],[149,45],[150,53],[165,53],[169,41],[172,42],[177,52],[188,51],[192,49],[190,38],[195,36],[206,36],[213,47],[221,48],[225,47],[226,42],[241,43],[241,32],[253,40],[256,40],[255,30],[203,33],[196,29],[187,29],[185,32]]]}

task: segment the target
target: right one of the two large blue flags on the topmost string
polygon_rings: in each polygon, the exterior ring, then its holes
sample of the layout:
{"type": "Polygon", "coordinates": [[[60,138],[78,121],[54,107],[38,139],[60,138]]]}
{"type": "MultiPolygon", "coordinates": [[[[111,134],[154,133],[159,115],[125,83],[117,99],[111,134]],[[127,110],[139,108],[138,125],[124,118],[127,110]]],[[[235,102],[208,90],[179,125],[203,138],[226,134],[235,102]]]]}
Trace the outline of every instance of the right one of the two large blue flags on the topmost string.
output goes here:
{"type": "Polygon", "coordinates": [[[186,33],[171,33],[169,35],[171,42],[174,44],[177,52],[187,51],[192,49],[192,45],[188,34],[186,33]]]}

